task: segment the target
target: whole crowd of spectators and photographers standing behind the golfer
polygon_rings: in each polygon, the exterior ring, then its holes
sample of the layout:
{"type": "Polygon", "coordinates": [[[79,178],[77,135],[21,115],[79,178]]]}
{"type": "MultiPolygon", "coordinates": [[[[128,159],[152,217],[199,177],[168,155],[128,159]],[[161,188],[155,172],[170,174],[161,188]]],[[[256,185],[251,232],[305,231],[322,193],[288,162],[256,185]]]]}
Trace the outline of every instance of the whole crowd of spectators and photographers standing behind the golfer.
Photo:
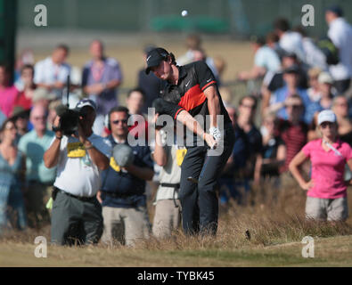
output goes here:
{"type": "MultiPolygon", "coordinates": [[[[187,52],[176,57],[177,65],[206,62],[235,132],[232,154],[218,180],[221,207],[229,207],[231,199],[244,205],[252,187],[263,182],[280,189],[293,175],[307,191],[307,217],[347,219],[352,26],[339,6],[327,9],[325,20],[325,40],[335,49],[322,47],[285,19],[275,20],[266,38],[252,38],[253,67],[236,79],[260,80],[260,94],[246,94],[238,106],[222,80],[225,60],[209,57],[198,35],[187,37],[187,52]],[[329,156],[319,148],[330,151],[329,156]],[[307,160],[311,167],[305,167],[307,160]],[[307,183],[301,171],[314,181],[307,183]],[[328,199],[334,203],[325,205],[328,199]]],[[[143,49],[144,64],[154,48],[143,49]]],[[[67,61],[67,45],[57,45],[37,63],[26,50],[15,66],[13,84],[10,69],[0,65],[0,235],[9,228],[52,224],[52,241],[59,244],[74,242],[74,236],[83,243],[119,241],[133,246],[151,235],[169,236],[182,221],[177,195],[187,150],[176,138],[160,146],[173,130],[157,128],[155,137],[148,137],[155,123],[147,116],[148,108],[165,81],[153,72],[146,74],[144,67],[122,102],[119,61],[106,55],[99,40],[92,41],[89,53],[92,58],[80,73],[67,61]],[[61,104],[79,110],[85,122],[75,136],[53,128],[59,124],[61,104]],[[129,145],[128,134],[151,143],[129,145]],[[113,151],[121,144],[131,151],[126,164],[117,161],[113,151]],[[156,206],[152,223],[148,199],[156,206]]]]}

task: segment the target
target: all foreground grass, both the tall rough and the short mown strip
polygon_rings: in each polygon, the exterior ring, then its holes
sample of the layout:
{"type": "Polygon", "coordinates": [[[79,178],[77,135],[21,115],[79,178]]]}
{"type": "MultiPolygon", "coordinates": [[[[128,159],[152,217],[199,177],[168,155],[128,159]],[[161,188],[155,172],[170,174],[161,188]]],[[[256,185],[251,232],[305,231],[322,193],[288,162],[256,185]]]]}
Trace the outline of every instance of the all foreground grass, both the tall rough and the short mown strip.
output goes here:
{"type": "Polygon", "coordinates": [[[34,240],[38,235],[50,240],[49,226],[7,232],[0,240],[0,265],[351,266],[351,218],[333,224],[306,220],[305,200],[305,192],[290,179],[282,183],[280,191],[263,183],[251,191],[246,205],[232,202],[221,208],[216,237],[189,237],[177,230],[168,239],[140,240],[135,248],[49,246],[48,258],[34,256],[34,240]],[[301,240],[307,235],[315,238],[315,258],[301,256],[301,240]]]}

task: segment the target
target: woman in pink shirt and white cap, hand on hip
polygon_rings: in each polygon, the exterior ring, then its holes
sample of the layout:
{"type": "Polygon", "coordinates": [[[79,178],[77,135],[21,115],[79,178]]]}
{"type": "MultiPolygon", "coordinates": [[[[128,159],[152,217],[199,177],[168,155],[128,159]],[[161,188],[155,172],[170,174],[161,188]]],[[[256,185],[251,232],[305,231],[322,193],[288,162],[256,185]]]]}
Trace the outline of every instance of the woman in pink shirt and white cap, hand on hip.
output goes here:
{"type": "Polygon", "coordinates": [[[318,115],[322,138],[308,142],[291,160],[290,171],[299,186],[307,191],[306,216],[315,220],[344,221],[348,217],[345,165],[352,170],[352,148],[338,137],[336,116],[332,110],[318,115]],[[312,164],[311,180],[306,182],[299,166],[307,159],[312,164]]]}

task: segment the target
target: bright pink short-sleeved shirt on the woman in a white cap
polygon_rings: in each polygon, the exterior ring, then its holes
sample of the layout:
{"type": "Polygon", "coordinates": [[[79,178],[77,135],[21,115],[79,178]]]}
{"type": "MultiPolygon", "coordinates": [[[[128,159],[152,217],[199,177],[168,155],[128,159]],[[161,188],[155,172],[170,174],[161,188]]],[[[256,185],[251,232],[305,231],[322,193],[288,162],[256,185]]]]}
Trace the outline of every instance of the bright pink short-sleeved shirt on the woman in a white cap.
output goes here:
{"type": "Polygon", "coordinates": [[[347,185],[343,180],[346,162],[352,159],[352,148],[346,142],[338,140],[332,146],[340,151],[324,151],[322,139],[308,142],[302,149],[312,162],[314,186],[307,196],[321,199],[337,199],[347,196],[347,185]]]}

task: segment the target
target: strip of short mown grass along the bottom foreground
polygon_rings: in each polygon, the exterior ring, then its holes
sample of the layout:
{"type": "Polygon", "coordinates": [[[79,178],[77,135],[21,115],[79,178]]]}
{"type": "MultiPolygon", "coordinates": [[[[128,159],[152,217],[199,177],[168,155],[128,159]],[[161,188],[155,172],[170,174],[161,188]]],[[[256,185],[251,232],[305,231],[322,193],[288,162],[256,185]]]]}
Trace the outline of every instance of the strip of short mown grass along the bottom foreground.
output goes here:
{"type": "Polygon", "coordinates": [[[35,245],[6,242],[0,245],[1,266],[352,266],[352,236],[315,239],[315,257],[301,255],[300,242],[243,248],[155,250],[131,248],[48,247],[46,258],[34,256],[35,245]]]}

